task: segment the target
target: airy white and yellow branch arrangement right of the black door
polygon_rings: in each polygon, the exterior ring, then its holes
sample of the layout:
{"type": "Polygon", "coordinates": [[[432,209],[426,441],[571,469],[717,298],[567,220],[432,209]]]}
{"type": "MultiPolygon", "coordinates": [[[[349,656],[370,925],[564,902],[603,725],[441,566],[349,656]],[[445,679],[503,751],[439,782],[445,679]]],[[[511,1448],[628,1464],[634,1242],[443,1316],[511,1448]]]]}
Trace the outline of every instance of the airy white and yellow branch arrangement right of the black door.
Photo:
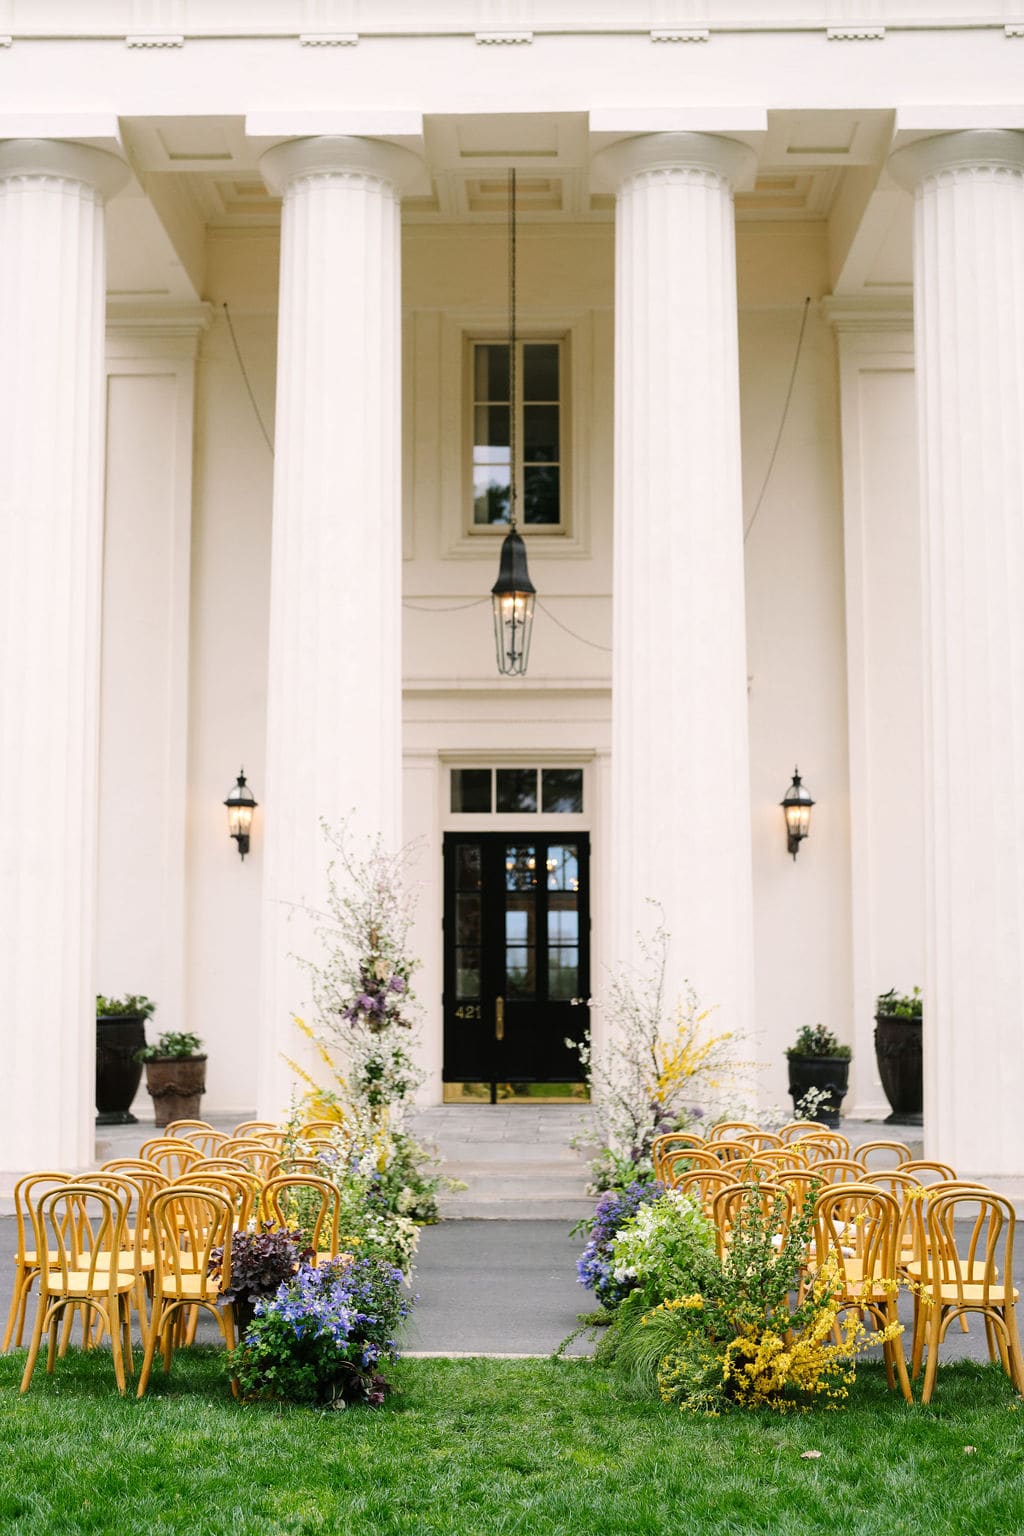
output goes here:
{"type": "Polygon", "coordinates": [[[596,1152],[594,1193],[649,1181],[654,1138],[715,1118],[712,1106],[742,1094],[752,1066],[737,1058],[734,1031],[708,1029],[711,1009],[700,1008],[691,988],[674,1005],[666,997],[663,922],[637,943],[642,965],[617,971],[609,983],[605,1044],[577,1046],[591,1084],[593,1127],[574,1144],[596,1152]]]}

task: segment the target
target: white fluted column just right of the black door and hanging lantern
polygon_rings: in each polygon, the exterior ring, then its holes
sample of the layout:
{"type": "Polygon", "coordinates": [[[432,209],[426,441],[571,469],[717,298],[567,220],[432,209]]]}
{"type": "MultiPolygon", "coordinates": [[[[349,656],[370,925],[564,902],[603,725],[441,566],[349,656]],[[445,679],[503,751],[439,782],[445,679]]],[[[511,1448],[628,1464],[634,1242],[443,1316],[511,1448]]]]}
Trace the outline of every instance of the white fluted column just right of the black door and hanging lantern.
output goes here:
{"type": "MultiPolygon", "coordinates": [[[[752,1025],[740,393],[732,186],[752,152],[651,134],[617,183],[613,965],[659,902],[720,1029],[752,1025]]],[[[789,765],[786,765],[789,766],[789,765]]]]}

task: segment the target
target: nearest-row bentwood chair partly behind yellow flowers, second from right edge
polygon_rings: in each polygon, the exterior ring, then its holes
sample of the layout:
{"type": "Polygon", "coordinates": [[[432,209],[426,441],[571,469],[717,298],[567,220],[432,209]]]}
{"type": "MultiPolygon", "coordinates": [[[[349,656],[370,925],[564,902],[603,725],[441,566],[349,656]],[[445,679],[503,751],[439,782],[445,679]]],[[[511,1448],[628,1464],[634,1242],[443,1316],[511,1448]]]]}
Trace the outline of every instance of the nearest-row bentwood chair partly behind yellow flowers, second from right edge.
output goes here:
{"type": "MultiPolygon", "coordinates": [[[[838,1310],[855,1310],[881,1332],[898,1324],[901,1215],[895,1195],[874,1184],[832,1184],[814,1204],[815,1270],[834,1267],[838,1310]]],[[[814,1283],[814,1281],[811,1281],[814,1283]]],[[[895,1338],[883,1342],[886,1379],[913,1401],[907,1362],[895,1338]]]]}

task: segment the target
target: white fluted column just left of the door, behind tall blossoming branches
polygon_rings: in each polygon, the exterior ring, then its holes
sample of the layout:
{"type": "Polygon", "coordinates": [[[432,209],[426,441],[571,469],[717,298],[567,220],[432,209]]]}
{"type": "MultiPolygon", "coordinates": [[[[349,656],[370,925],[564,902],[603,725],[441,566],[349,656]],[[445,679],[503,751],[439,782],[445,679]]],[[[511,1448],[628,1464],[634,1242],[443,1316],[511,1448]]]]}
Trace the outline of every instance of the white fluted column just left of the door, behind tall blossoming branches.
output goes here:
{"type": "Polygon", "coordinates": [[[358,138],[263,160],[284,194],[264,785],[259,1112],[306,1060],[295,955],[319,951],[329,848],[401,842],[401,220],[419,161],[358,138]]]}

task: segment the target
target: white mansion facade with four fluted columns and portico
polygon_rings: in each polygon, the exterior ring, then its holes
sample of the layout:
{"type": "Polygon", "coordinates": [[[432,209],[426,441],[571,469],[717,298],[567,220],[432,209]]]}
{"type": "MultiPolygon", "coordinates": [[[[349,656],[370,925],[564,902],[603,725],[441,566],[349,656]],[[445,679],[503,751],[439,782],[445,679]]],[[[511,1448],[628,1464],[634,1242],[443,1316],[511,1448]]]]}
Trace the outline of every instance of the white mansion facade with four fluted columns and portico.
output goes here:
{"type": "Polygon", "coordinates": [[[0,0],[0,1169],[89,1160],[97,991],[284,1106],[325,819],[418,842],[428,1101],[654,899],[766,1100],[820,1020],[884,1115],[921,985],[1024,1172],[1022,280],[1019,0],[0,0]]]}

